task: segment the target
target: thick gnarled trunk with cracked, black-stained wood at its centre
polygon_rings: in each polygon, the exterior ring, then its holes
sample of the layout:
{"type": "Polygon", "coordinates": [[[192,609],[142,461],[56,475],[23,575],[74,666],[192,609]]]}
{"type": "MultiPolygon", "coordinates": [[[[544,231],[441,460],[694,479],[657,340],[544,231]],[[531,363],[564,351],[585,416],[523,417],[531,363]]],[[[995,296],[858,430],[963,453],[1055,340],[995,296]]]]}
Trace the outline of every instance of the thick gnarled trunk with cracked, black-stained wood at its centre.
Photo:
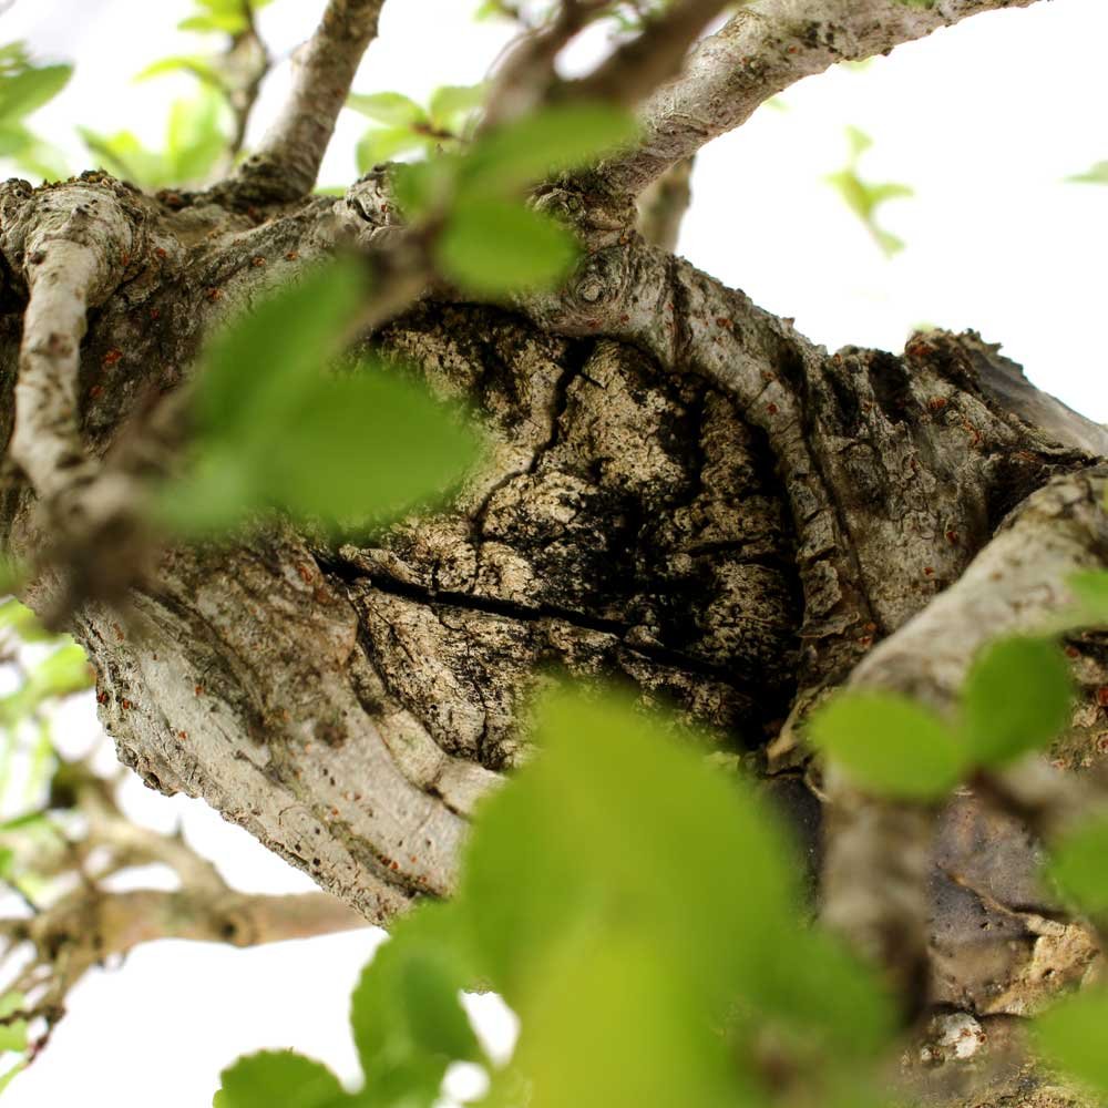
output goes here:
{"type": "MultiPolygon", "coordinates": [[[[10,229],[27,197],[8,189],[10,229]]],[[[81,350],[90,453],[127,449],[127,420],[175,389],[216,319],[329,250],[336,228],[371,238],[387,222],[371,189],[267,222],[144,201],[150,255],[81,350]]],[[[275,526],[168,551],[125,612],[90,603],[76,617],[122,760],[203,797],[370,920],[450,892],[473,804],[526,757],[527,698],[556,669],[630,683],[748,755],[814,859],[806,707],[957,582],[1029,494],[1066,474],[1102,482],[1089,468],[1104,429],[974,335],[828,356],[686,263],[612,238],[556,304],[432,299],[377,336],[437,391],[470,398],[488,430],[485,463],[449,506],[342,545],[275,526]]],[[[24,306],[11,242],[4,438],[24,306]]],[[[18,553],[50,545],[18,484],[3,525],[18,553]]],[[[1104,536],[1088,550],[1102,563],[1104,536]]],[[[50,581],[37,587],[47,603],[50,581]]],[[[1100,640],[1070,653],[1084,696],[1055,757],[1079,770],[1108,749],[1108,678],[1100,640]]],[[[941,701],[960,665],[885,683],[941,701]]],[[[844,821],[886,818],[835,815],[848,842],[844,821]]],[[[903,819],[885,841],[902,833],[903,854],[865,864],[894,884],[930,870],[930,901],[909,911],[931,917],[930,1002],[996,1020],[1084,974],[1095,944],[1042,903],[1023,828],[960,796],[930,852],[931,831],[903,819]]]]}

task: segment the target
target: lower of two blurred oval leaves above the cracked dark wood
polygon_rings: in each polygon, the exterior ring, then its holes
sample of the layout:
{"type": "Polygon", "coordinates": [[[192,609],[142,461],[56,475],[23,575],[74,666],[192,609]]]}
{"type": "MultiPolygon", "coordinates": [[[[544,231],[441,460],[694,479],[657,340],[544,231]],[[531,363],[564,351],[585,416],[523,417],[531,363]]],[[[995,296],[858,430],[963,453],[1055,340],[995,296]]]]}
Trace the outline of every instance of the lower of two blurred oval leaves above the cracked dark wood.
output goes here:
{"type": "Polygon", "coordinates": [[[561,224],[495,197],[460,202],[435,243],[443,275],[479,296],[553,287],[576,257],[576,240],[561,224]]]}

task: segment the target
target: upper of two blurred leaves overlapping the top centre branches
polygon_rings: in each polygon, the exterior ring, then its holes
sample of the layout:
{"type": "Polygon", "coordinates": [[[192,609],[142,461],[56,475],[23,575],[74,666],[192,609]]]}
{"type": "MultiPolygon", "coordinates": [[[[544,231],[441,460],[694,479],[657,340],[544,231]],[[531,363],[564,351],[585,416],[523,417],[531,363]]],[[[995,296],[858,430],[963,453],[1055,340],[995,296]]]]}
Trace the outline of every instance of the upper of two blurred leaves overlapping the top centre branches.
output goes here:
{"type": "Polygon", "coordinates": [[[637,135],[634,116],[611,104],[563,104],[509,123],[475,143],[464,195],[511,195],[526,185],[599,161],[637,135]]]}

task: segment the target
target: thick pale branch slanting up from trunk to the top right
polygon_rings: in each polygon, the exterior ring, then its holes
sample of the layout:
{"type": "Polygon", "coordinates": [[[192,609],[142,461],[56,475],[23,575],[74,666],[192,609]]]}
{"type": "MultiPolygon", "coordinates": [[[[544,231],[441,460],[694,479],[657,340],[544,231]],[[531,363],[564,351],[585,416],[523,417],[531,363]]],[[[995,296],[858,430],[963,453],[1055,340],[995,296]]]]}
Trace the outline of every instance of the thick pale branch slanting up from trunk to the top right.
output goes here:
{"type": "Polygon", "coordinates": [[[1035,0],[756,0],[693,52],[684,75],[643,106],[642,144],[608,161],[616,191],[638,194],[675,162],[745,123],[797,81],[921,39],[978,12],[1035,0]]]}

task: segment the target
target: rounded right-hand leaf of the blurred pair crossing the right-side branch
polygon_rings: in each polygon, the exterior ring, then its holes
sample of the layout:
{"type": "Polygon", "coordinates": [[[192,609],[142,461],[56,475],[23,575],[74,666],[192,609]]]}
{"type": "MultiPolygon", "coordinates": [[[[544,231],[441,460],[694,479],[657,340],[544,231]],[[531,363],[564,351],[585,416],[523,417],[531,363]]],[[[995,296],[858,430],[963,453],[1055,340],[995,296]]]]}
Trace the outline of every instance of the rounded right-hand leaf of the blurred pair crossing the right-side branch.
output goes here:
{"type": "Polygon", "coordinates": [[[1061,652],[1039,638],[993,643],[962,690],[963,735],[973,760],[1003,766],[1046,746],[1069,722],[1073,685],[1061,652]]]}

